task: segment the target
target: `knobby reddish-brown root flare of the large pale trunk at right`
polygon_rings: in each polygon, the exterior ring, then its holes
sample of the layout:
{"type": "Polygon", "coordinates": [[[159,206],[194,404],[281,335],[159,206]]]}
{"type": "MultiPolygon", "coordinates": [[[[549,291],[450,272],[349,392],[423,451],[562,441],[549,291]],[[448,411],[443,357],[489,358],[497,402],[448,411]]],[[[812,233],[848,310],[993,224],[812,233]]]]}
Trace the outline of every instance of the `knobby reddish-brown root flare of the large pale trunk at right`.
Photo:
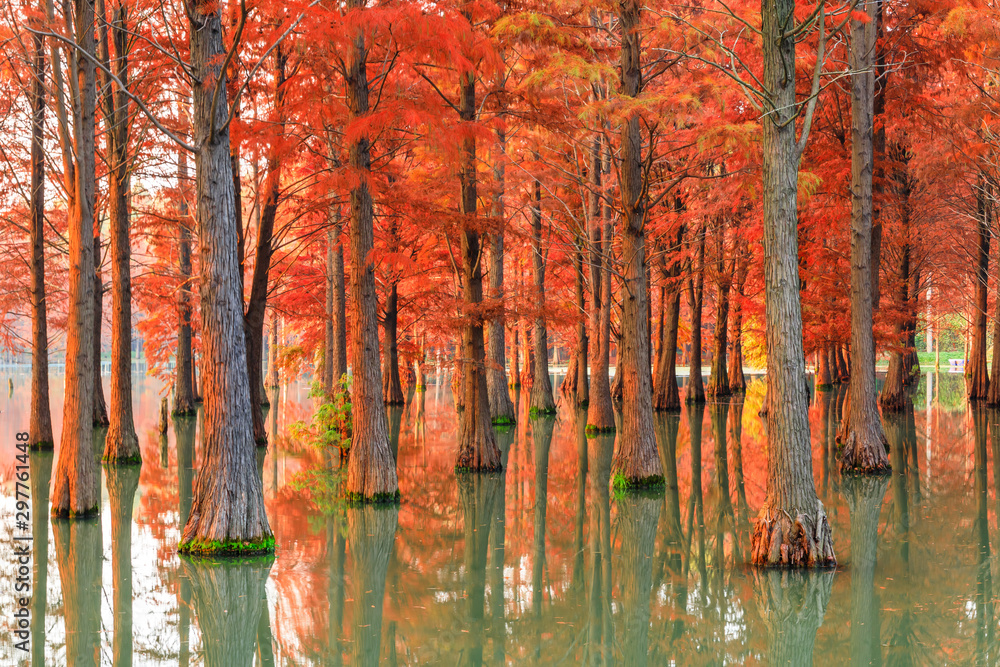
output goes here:
{"type": "Polygon", "coordinates": [[[823,503],[815,515],[764,508],[754,519],[750,563],[763,567],[836,567],[833,533],[823,503]]]}

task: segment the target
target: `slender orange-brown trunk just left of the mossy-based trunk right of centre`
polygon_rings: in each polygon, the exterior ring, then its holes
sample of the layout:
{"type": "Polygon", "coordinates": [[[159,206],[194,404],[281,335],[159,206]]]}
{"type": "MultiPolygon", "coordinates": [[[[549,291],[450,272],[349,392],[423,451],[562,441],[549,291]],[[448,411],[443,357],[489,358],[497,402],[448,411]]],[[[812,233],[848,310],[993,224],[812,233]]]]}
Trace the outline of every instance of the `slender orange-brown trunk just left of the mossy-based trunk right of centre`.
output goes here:
{"type": "Polygon", "coordinates": [[[614,407],[611,404],[611,224],[604,217],[601,202],[604,160],[601,136],[595,135],[590,155],[590,402],[587,404],[587,428],[613,431],[614,407]]]}

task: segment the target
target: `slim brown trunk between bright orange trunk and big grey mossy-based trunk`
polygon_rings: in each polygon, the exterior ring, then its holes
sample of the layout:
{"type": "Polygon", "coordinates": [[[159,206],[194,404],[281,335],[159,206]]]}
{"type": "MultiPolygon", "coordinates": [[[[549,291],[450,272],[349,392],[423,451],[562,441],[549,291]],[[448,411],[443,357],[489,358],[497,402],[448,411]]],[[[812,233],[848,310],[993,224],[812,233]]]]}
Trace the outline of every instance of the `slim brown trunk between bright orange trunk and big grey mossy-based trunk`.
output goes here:
{"type": "Polygon", "coordinates": [[[132,464],[141,462],[142,456],[132,417],[132,252],[129,241],[129,199],[132,186],[128,153],[131,125],[128,98],[130,28],[127,5],[122,0],[115,0],[111,16],[111,41],[115,49],[114,58],[111,59],[103,0],[98,0],[98,7],[101,15],[101,60],[121,82],[112,87],[106,74],[101,77],[105,88],[103,106],[107,126],[107,197],[111,241],[111,403],[103,460],[107,463],[132,464]],[[122,89],[122,85],[125,89],[122,89]]]}

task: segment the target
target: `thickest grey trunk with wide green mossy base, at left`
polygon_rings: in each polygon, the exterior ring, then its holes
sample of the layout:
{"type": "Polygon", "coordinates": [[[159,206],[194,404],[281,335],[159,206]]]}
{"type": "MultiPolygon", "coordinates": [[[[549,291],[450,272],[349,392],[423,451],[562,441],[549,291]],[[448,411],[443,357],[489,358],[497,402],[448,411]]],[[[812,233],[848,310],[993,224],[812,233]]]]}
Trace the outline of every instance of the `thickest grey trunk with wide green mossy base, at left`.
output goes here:
{"type": "MultiPolygon", "coordinates": [[[[221,66],[226,46],[219,12],[218,5],[207,0],[194,3],[189,11],[194,144],[199,147],[195,183],[201,259],[204,457],[178,549],[245,555],[273,551],[274,536],[257,474],[246,341],[241,335],[243,295],[226,126],[228,104],[221,93],[217,102],[213,101],[216,85],[225,84],[221,66]]],[[[259,409],[259,404],[256,407],[259,409]]],[[[258,605],[259,600],[244,603],[258,605]]]]}

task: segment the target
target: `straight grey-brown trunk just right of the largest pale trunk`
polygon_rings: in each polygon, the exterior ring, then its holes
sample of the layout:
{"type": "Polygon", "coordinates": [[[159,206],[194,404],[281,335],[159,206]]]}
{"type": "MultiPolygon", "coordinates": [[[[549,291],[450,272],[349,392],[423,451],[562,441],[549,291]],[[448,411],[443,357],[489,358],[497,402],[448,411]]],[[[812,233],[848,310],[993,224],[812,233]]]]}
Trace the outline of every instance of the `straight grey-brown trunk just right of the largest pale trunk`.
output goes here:
{"type": "Polygon", "coordinates": [[[885,434],[875,394],[875,337],[872,330],[872,132],[876,20],[851,19],[851,406],[841,426],[841,472],[889,470],[885,434]]]}

